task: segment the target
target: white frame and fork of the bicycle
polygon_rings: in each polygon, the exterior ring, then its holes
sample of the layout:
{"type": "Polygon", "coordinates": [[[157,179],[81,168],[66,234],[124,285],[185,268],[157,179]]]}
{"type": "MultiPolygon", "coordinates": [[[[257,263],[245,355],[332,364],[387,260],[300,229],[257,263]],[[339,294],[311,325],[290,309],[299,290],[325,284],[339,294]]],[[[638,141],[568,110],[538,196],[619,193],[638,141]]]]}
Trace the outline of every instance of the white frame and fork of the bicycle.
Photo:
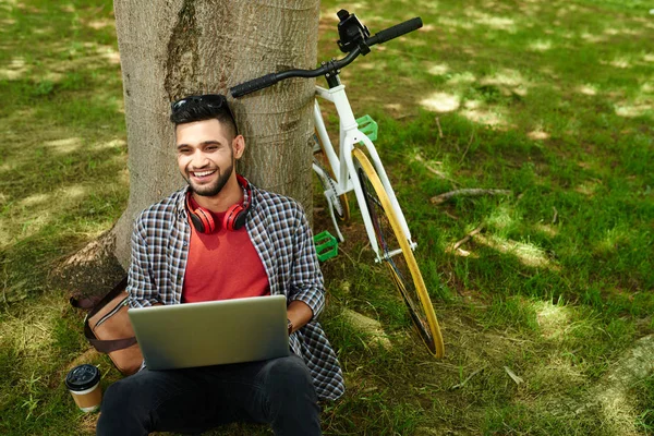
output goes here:
{"type": "Polygon", "coordinates": [[[388,177],[386,175],[386,170],[382,165],[382,160],[379,159],[379,155],[377,154],[377,149],[373,142],[365,135],[363,132],[359,130],[359,125],[356,123],[356,119],[354,118],[354,113],[352,112],[352,108],[350,106],[350,101],[348,100],[348,96],[346,95],[346,86],[338,85],[334,88],[327,89],[320,86],[316,86],[316,100],[314,104],[314,122],[315,129],[323,144],[323,148],[325,150],[325,155],[327,160],[329,161],[329,166],[331,167],[332,173],[336,178],[332,179],[330,174],[325,172],[325,170],[313,164],[313,170],[323,178],[331,179],[335,183],[331,184],[334,187],[326,186],[327,190],[324,191],[325,197],[327,198],[327,203],[329,205],[329,214],[331,216],[331,221],[334,222],[334,227],[338,233],[339,240],[343,241],[343,235],[340,232],[338,227],[338,222],[334,215],[334,204],[332,196],[342,195],[350,191],[354,191],[356,196],[356,202],[359,203],[359,208],[361,209],[361,215],[363,217],[363,223],[365,226],[365,231],[367,233],[368,240],[371,241],[371,246],[376,255],[376,262],[382,262],[387,259],[387,257],[393,256],[398,253],[401,253],[401,250],[396,250],[391,253],[385,254],[379,249],[379,244],[377,243],[377,239],[375,237],[375,230],[373,227],[373,222],[371,220],[367,203],[361,187],[361,182],[359,181],[359,177],[356,174],[356,169],[354,168],[354,164],[352,161],[352,150],[354,146],[359,143],[363,143],[368,155],[371,157],[372,164],[379,175],[379,180],[384,185],[384,190],[388,197],[390,198],[391,206],[399,218],[400,226],[404,233],[404,238],[409,241],[409,245],[412,250],[415,250],[417,245],[411,239],[411,233],[409,231],[409,226],[407,226],[407,220],[404,219],[404,214],[402,214],[402,209],[398,203],[398,199],[395,195],[392,186],[388,181],[388,177]],[[336,111],[339,118],[339,153],[336,154],[334,149],[334,145],[329,140],[329,135],[327,134],[327,129],[325,128],[325,122],[323,120],[323,114],[320,112],[320,107],[318,105],[318,98],[330,101],[336,107],[336,111]],[[335,192],[336,190],[336,192],[335,192]]]}

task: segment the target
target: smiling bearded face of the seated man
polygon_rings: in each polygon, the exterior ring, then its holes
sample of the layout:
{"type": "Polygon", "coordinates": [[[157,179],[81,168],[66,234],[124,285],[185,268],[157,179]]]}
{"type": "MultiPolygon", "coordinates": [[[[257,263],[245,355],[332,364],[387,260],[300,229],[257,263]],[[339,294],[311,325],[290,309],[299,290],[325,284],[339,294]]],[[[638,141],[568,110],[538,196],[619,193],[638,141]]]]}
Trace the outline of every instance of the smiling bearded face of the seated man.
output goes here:
{"type": "MultiPolygon", "coordinates": [[[[175,129],[178,166],[197,195],[217,195],[234,168],[234,143],[218,120],[180,124],[175,129]]],[[[240,157],[242,150],[238,150],[240,157]]]]}

